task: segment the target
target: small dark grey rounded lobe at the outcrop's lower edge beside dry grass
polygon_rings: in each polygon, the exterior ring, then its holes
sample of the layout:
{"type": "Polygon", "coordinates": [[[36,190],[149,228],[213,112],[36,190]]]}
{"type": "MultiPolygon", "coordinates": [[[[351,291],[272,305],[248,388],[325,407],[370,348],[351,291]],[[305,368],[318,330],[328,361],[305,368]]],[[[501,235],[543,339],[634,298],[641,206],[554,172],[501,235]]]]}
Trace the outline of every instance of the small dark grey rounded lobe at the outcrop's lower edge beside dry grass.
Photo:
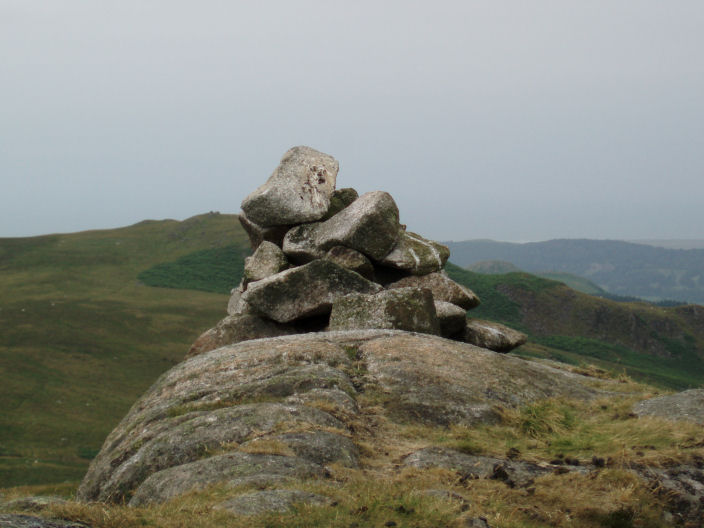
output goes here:
{"type": "Polygon", "coordinates": [[[243,448],[256,447],[262,441],[274,440],[290,449],[296,456],[315,462],[357,467],[359,451],[349,438],[328,431],[286,433],[271,437],[258,437],[242,444],[243,448]]]}

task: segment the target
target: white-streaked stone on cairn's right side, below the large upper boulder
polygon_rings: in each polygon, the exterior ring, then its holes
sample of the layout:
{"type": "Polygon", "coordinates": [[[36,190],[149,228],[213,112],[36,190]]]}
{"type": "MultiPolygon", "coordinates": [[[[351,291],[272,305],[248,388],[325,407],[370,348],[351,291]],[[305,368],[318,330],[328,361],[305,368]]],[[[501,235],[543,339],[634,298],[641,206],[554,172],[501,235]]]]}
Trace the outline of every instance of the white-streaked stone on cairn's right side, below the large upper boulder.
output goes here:
{"type": "Polygon", "coordinates": [[[413,275],[427,275],[440,271],[449,257],[447,246],[416,233],[402,231],[391,252],[377,260],[382,266],[405,270],[413,275]]]}

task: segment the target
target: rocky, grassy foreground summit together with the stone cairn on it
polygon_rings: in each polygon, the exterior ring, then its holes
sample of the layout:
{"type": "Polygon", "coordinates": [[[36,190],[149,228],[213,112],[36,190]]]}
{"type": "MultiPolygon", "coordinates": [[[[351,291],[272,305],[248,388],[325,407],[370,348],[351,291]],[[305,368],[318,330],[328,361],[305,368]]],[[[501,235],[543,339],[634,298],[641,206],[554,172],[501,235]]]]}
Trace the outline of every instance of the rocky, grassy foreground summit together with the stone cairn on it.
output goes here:
{"type": "MultiPolygon", "coordinates": [[[[110,433],[80,504],[51,512],[486,528],[489,508],[497,526],[701,526],[701,392],[636,404],[653,394],[506,354],[525,336],[467,317],[479,299],[443,271],[447,248],[406,232],[388,193],[336,190],[338,166],[295,147],[244,200],[253,254],[227,316],[110,433]],[[692,456],[649,463],[675,429],[692,456]],[[565,490],[581,495],[566,505],[565,490]]],[[[34,522],[12,511],[0,526],[34,522]]]]}

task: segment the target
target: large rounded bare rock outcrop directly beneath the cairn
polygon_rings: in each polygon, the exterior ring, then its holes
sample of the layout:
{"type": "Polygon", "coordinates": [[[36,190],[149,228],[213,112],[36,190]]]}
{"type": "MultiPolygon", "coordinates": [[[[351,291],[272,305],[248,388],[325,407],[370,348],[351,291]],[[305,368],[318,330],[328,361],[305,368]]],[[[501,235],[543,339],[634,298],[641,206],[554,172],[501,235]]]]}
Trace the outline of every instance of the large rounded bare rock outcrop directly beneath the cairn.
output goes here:
{"type": "Polygon", "coordinates": [[[397,330],[245,341],[161,376],[108,436],[78,497],[139,505],[216,482],[323,478],[328,463],[354,467],[357,437],[345,417],[363,410],[360,392],[378,392],[391,420],[470,425],[495,419],[496,405],[590,398],[597,391],[586,380],[397,330]]]}

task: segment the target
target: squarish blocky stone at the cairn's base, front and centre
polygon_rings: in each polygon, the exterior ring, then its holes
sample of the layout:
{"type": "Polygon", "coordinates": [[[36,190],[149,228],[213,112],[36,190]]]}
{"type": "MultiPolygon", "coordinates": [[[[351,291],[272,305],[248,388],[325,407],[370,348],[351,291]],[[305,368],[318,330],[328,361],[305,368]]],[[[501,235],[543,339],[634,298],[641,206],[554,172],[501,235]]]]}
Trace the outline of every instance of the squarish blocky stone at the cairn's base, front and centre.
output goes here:
{"type": "Polygon", "coordinates": [[[329,328],[390,328],[424,334],[440,333],[433,294],[421,288],[397,288],[373,295],[341,297],[332,305],[329,328]]]}

